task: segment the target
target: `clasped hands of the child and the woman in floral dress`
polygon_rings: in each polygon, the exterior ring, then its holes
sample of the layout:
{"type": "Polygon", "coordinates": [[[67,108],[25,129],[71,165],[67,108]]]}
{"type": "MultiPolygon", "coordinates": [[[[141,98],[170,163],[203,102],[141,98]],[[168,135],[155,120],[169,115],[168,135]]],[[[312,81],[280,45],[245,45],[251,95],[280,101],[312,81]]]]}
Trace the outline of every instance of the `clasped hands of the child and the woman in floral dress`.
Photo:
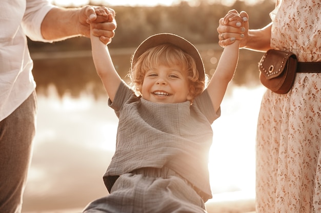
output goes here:
{"type": "Polygon", "coordinates": [[[236,10],[230,10],[224,18],[219,19],[218,44],[224,47],[240,40],[240,47],[243,47],[246,45],[248,30],[248,14],[244,11],[238,13],[236,10]]]}

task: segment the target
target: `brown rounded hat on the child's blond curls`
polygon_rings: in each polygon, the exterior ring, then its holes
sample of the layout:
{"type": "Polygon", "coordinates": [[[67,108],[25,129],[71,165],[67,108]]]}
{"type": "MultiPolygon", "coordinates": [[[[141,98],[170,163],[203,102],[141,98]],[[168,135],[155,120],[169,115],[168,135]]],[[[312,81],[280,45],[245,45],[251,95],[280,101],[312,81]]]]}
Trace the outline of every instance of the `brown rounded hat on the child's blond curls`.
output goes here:
{"type": "Polygon", "coordinates": [[[136,49],[132,57],[131,67],[133,68],[133,64],[136,63],[138,57],[141,56],[143,53],[145,53],[148,49],[153,48],[154,46],[158,46],[160,44],[166,44],[166,43],[170,43],[174,46],[177,46],[177,48],[183,50],[184,52],[192,56],[195,60],[196,68],[199,74],[198,79],[199,80],[205,79],[204,64],[195,46],[185,38],[175,34],[170,34],[170,33],[155,34],[148,37],[145,41],[143,41],[138,46],[138,48],[136,49]]]}

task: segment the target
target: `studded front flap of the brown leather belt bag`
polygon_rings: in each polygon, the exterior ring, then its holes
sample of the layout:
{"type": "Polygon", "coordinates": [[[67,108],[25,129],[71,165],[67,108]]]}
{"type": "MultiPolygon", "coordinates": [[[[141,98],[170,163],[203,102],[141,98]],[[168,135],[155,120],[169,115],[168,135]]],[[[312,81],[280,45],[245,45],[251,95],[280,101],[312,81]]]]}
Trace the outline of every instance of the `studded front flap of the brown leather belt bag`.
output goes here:
{"type": "Polygon", "coordinates": [[[268,50],[258,63],[258,68],[267,79],[272,79],[282,74],[288,59],[296,56],[293,53],[268,50]]]}

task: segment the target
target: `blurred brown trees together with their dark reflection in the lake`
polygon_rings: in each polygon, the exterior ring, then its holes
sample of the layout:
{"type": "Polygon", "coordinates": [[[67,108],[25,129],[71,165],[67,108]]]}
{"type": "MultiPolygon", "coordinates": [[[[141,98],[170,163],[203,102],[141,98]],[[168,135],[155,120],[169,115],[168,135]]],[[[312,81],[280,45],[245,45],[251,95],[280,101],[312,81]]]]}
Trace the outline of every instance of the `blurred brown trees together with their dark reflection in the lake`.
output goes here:
{"type": "MultiPolygon", "coordinates": [[[[258,29],[270,22],[269,12],[274,8],[274,0],[265,0],[253,6],[236,1],[231,7],[207,4],[207,0],[198,1],[199,4],[194,7],[184,1],[171,7],[112,7],[116,11],[117,29],[109,48],[118,74],[126,77],[131,55],[143,40],[166,32],[191,41],[203,58],[207,74],[211,76],[223,51],[218,46],[216,30],[219,18],[231,9],[244,10],[249,14],[250,29],[258,29]]],[[[34,61],[33,75],[38,92],[46,95],[48,87],[54,85],[61,97],[66,92],[78,97],[84,90],[95,97],[105,94],[95,72],[89,38],[76,37],[53,44],[28,40],[28,45],[34,61]]],[[[257,85],[257,62],[262,55],[240,50],[233,82],[237,85],[257,85]]]]}

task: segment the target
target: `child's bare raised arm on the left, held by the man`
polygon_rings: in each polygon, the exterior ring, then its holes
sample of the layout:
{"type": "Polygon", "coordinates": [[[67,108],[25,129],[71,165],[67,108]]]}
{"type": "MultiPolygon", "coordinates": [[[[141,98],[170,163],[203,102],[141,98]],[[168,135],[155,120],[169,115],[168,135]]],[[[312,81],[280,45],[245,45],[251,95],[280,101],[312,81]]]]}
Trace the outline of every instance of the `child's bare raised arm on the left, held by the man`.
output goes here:
{"type": "MultiPolygon", "coordinates": [[[[109,15],[111,21],[113,21],[112,14],[107,15],[109,15]]],[[[113,101],[122,79],[116,72],[107,45],[101,42],[99,37],[93,35],[92,28],[90,28],[90,30],[92,58],[96,72],[101,78],[110,100],[113,101]]]]}

